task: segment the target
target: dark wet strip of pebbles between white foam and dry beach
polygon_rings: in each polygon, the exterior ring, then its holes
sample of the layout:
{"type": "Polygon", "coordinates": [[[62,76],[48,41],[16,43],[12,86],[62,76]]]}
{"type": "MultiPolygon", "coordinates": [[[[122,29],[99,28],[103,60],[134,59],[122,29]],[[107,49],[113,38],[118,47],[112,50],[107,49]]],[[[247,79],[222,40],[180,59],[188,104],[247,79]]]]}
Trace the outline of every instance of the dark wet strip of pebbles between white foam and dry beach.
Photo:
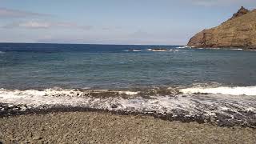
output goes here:
{"type": "MultiPolygon", "coordinates": [[[[8,104],[7,104],[8,105],[8,104]]],[[[0,103],[0,106],[3,107],[3,104],[0,103]]],[[[53,113],[98,113],[98,114],[114,114],[114,115],[123,115],[123,116],[143,116],[143,117],[152,117],[156,119],[160,119],[167,122],[182,122],[182,123],[190,123],[197,122],[198,124],[208,124],[211,126],[217,127],[227,127],[232,128],[235,126],[241,126],[243,128],[251,128],[256,130],[256,123],[248,124],[235,124],[235,123],[227,123],[225,120],[223,122],[216,122],[213,118],[204,118],[203,115],[198,115],[194,117],[186,117],[184,114],[180,114],[175,116],[173,114],[158,114],[158,113],[142,113],[138,111],[122,111],[122,110],[102,110],[96,108],[88,108],[88,107],[80,107],[80,106],[51,106],[45,108],[31,108],[25,111],[21,111],[21,106],[13,106],[9,110],[0,110],[0,118],[15,118],[22,115],[44,115],[44,114],[53,114],[53,113]]]]}

